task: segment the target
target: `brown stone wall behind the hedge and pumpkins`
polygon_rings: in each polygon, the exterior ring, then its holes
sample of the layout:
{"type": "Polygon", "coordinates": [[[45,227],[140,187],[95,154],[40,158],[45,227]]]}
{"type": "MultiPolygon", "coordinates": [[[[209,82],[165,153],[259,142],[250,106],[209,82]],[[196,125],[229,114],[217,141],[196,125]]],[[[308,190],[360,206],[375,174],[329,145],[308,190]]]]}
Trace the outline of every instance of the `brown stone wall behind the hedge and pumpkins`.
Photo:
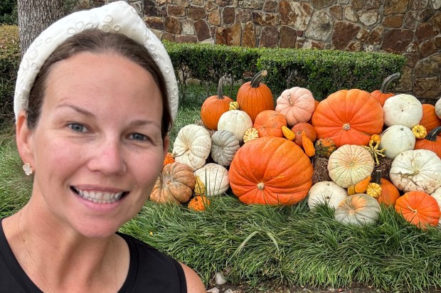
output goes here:
{"type": "Polygon", "coordinates": [[[395,92],[441,97],[441,0],[129,2],[169,41],[403,54],[395,92]]]}

